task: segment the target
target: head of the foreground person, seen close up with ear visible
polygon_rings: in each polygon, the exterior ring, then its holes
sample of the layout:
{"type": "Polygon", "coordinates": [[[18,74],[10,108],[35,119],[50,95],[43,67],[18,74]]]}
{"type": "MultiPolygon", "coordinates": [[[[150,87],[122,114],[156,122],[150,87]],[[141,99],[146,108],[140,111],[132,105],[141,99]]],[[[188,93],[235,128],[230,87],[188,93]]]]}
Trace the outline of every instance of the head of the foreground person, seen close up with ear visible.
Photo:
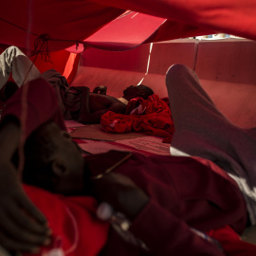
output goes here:
{"type": "Polygon", "coordinates": [[[25,145],[23,181],[49,192],[83,193],[83,158],[79,146],[54,122],[33,132],[25,145]]]}

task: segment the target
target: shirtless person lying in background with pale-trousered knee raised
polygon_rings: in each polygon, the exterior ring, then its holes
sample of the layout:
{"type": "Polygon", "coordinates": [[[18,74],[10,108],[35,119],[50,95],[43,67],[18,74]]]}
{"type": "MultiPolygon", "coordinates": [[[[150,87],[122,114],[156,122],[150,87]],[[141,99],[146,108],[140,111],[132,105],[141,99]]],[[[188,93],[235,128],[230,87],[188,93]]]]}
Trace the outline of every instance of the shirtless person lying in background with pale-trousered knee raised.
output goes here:
{"type": "MultiPolygon", "coordinates": [[[[0,55],[0,89],[8,82],[10,72],[17,84],[16,88],[21,87],[24,82],[36,78],[46,79],[56,92],[64,119],[73,119],[83,124],[101,123],[101,116],[108,111],[124,114],[128,101],[137,97],[147,100],[149,96],[154,94],[150,87],[143,84],[127,87],[120,98],[104,95],[105,90],[102,90],[101,86],[95,88],[95,93],[90,93],[87,86],[70,87],[64,76],[54,69],[41,74],[16,46],[9,46],[0,55]]],[[[13,82],[7,84],[5,91],[8,98],[11,91],[10,87],[14,91],[15,84],[13,82]]]]}

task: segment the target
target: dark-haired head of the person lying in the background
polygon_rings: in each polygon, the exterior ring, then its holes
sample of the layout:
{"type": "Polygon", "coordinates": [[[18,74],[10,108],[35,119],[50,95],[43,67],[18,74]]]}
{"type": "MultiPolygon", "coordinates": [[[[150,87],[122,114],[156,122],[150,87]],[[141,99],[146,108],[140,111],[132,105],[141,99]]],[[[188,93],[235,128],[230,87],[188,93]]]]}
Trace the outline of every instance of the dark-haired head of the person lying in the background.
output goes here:
{"type": "Polygon", "coordinates": [[[122,98],[126,99],[127,101],[130,101],[137,97],[147,100],[149,96],[153,94],[154,94],[154,91],[146,85],[143,85],[143,84],[139,84],[137,86],[131,85],[123,91],[122,98]]]}

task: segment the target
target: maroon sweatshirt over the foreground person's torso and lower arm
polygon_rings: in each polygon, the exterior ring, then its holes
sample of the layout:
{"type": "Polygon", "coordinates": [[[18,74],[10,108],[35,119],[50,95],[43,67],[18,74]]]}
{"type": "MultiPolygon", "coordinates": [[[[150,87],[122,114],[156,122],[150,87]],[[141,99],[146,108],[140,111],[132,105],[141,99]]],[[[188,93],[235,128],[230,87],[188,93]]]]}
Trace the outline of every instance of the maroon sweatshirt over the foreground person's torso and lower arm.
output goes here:
{"type": "MultiPolygon", "coordinates": [[[[84,159],[95,175],[115,165],[119,155],[123,153],[110,151],[84,159]]],[[[101,255],[224,256],[226,251],[192,229],[207,232],[229,225],[239,234],[245,229],[247,210],[238,186],[207,159],[133,153],[113,172],[130,177],[150,197],[129,229],[150,251],[131,246],[110,229],[101,255]]]]}

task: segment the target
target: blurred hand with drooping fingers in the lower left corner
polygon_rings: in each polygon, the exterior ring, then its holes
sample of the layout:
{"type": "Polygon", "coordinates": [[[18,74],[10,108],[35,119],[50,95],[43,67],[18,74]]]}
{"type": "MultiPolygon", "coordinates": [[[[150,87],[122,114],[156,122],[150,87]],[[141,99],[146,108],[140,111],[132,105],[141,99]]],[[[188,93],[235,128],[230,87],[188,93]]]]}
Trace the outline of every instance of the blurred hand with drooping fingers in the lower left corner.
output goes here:
{"type": "Polygon", "coordinates": [[[45,216],[27,198],[11,163],[0,164],[0,244],[9,251],[37,252],[49,243],[45,216]]]}

